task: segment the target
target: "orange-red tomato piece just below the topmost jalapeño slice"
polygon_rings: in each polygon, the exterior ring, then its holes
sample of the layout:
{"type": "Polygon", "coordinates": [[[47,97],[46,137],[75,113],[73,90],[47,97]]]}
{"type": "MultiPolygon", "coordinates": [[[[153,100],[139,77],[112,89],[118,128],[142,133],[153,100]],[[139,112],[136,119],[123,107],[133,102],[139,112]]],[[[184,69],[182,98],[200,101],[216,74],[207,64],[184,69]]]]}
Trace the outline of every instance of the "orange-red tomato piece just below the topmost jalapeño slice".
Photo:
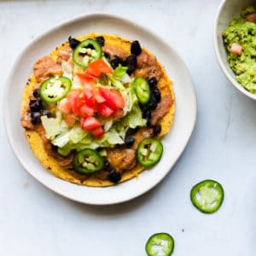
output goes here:
{"type": "Polygon", "coordinates": [[[100,77],[101,73],[113,73],[113,69],[102,59],[92,61],[88,64],[86,74],[95,78],[100,77]]]}

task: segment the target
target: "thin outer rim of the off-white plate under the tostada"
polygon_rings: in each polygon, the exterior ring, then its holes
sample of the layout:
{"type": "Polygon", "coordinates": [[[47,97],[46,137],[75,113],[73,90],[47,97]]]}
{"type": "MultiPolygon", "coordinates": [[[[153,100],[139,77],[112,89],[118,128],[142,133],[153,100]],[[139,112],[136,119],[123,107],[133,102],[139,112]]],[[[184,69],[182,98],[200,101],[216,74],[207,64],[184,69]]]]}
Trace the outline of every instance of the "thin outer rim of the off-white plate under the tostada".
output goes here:
{"type": "MultiPolygon", "coordinates": [[[[106,201],[105,200],[105,201],[92,202],[92,201],[80,200],[80,199],[76,198],[76,196],[73,196],[73,195],[68,194],[68,193],[65,194],[63,192],[58,191],[58,189],[55,189],[52,186],[50,186],[48,183],[45,183],[44,181],[40,180],[40,178],[37,177],[35,172],[31,172],[30,170],[28,170],[26,168],[26,165],[24,164],[23,160],[21,159],[19,153],[15,149],[15,145],[14,145],[12,139],[11,139],[11,132],[9,131],[9,127],[8,127],[9,125],[8,125],[8,122],[7,122],[7,119],[9,118],[7,111],[3,111],[3,123],[4,123],[5,131],[6,131],[6,134],[7,134],[7,137],[8,137],[9,145],[11,146],[13,152],[15,153],[15,157],[17,158],[17,160],[19,160],[20,165],[26,170],[26,172],[28,172],[39,183],[43,184],[46,188],[48,188],[49,190],[55,192],[56,194],[61,195],[61,196],[65,197],[65,198],[67,198],[69,200],[77,201],[77,202],[80,202],[80,203],[83,203],[83,204],[87,204],[87,205],[103,206],[103,205],[119,204],[119,203],[123,203],[125,201],[131,201],[132,199],[135,199],[135,198],[137,198],[140,195],[144,195],[145,193],[148,192],[148,190],[153,189],[157,184],[159,184],[166,177],[166,175],[169,172],[171,172],[172,168],[176,165],[177,160],[179,160],[179,158],[183,154],[183,151],[187,147],[187,145],[189,143],[189,140],[190,140],[190,138],[191,138],[191,136],[193,134],[193,131],[195,130],[195,122],[196,122],[196,118],[197,118],[197,98],[196,98],[196,94],[195,94],[195,86],[194,86],[193,81],[191,79],[191,74],[189,73],[189,68],[186,66],[185,62],[180,57],[180,55],[177,54],[177,51],[175,49],[173,49],[173,47],[170,44],[166,43],[165,39],[161,38],[160,35],[158,35],[155,32],[153,32],[150,28],[148,28],[148,26],[138,25],[137,23],[135,23],[135,22],[133,22],[131,20],[128,20],[128,19],[123,18],[123,17],[120,17],[119,15],[113,15],[113,14],[109,14],[109,13],[105,13],[105,12],[94,12],[94,13],[90,13],[90,14],[77,15],[77,16],[71,18],[71,19],[68,19],[68,20],[65,20],[65,21],[59,23],[56,26],[51,27],[49,30],[47,30],[47,31],[39,34],[37,37],[33,38],[28,44],[26,44],[26,46],[23,49],[20,50],[20,54],[15,57],[14,63],[13,63],[13,65],[12,65],[10,71],[9,71],[8,77],[7,77],[6,82],[5,82],[5,86],[4,86],[4,90],[3,90],[3,109],[4,109],[4,106],[6,106],[6,101],[7,101],[8,95],[9,95],[9,84],[11,82],[12,73],[14,73],[15,68],[17,66],[17,62],[20,61],[21,56],[24,55],[26,50],[30,49],[30,47],[33,44],[37,43],[41,38],[47,37],[48,34],[50,34],[51,32],[55,32],[55,30],[60,29],[62,26],[68,26],[70,23],[74,23],[74,22],[77,22],[79,20],[94,18],[95,16],[101,16],[101,17],[104,17],[104,18],[107,18],[107,19],[120,20],[121,22],[123,22],[125,24],[137,27],[138,29],[143,30],[144,32],[147,32],[148,34],[150,34],[150,36],[153,36],[154,38],[158,38],[169,49],[172,49],[172,52],[174,53],[174,55],[176,55],[177,59],[180,61],[180,64],[183,66],[183,70],[185,70],[185,72],[186,72],[187,79],[189,79],[189,84],[191,85],[190,86],[191,87],[190,90],[191,90],[191,93],[192,93],[192,96],[193,96],[193,102],[195,103],[194,106],[193,106],[195,111],[194,111],[194,115],[193,115],[192,125],[190,126],[190,129],[188,131],[189,137],[187,137],[185,143],[183,143],[183,147],[180,149],[179,154],[177,154],[176,159],[172,163],[172,166],[170,166],[169,171],[166,172],[162,177],[160,177],[160,179],[156,183],[153,183],[150,186],[148,186],[146,189],[143,189],[142,193],[139,193],[139,194],[137,194],[135,196],[132,196],[132,197],[127,197],[126,196],[123,199],[119,199],[119,200],[115,200],[115,201],[106,201]]],[[[175,93],[175,91],[174,91],[174,93],[175,93]]],[[[176,102],[176,104],[177,104],[177,102],[176,102]]],[[[175,121],[175,117],[174,117],[174,121],[175,121]]],[[[171,131],[172,131],[172,129],[171,129],[171,131]]],[[[54,178],[58,178],[58,177],[54,177],[54,178]]],[[[129,181],[126,181],[125,183],[127,183],[127,182],[129,182],[129,181]]],[[[74,185],[77,185],[77,184],[74,184],[74,185]]],[[[119,186],[120,185],[122,185],[122,183],[119,184],[119,186]]],[[[113,188],[113,187],[114,186],[111,186],[109,188],[113,188]]],[[[90,188],[90,187],[88,187],[88,188],[90,188]]],[[[100,187],[99,189],[104,189],[104,188],[100,187]]]]}

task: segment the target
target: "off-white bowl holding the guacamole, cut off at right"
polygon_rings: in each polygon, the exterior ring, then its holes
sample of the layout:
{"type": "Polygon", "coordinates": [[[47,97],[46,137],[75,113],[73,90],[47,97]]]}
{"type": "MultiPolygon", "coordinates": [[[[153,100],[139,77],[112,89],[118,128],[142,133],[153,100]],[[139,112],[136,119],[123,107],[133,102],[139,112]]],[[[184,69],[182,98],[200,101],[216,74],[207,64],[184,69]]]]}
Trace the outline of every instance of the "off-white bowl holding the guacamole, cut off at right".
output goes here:
{"type": "Polygon", "coordinates": [[[227,52],[224,48],[224,42],[222,38],[222,32],[230,25],[230,20],[238,17],[241,13],[241,9],[255,4],[254,0],[224,0],[220,3],[217,15],[214,20],[213,26],[213,45],[215,53],[217,55],[218,64],[221,67],[224,75],[230,80],[237,90],[242,94],[256,100],[256,95],[244,89],[241,84],[236,81],[235,73],[231,70],[230,64],[227,61],[227,52]]]}

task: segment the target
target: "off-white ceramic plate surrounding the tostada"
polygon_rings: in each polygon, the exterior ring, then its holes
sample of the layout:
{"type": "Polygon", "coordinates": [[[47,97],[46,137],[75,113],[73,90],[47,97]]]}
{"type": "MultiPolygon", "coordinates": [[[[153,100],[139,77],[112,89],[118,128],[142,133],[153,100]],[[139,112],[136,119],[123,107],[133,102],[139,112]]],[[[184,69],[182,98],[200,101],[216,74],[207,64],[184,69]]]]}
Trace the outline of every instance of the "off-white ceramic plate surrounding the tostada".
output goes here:
{"type": "Polygon", "coordinates": [[[108,205],[131,200],[152,189],[166,176],[189,142],[196,118],[195,90],[189,71],[177,53],[159,37],[142,26],[114,15],[83,15],[56,26],[36,38],[22,51],[9,73],[4,96],[4,121],[9,143],[27,172],[47,188],[73,201],[93,205],[108,205]],[[164,154],[160,163],[150,171],[125,183],[108,188],[90,188],[63,181],[44,169],[32,154],[20,127],[20,99],[32,65],[55,46],[73,37],[89,32],[118,34],[124,38],[137,39],[166,67],[173,80],[176,96],[176,115],[172,130],[163,139],[164,154]]]}

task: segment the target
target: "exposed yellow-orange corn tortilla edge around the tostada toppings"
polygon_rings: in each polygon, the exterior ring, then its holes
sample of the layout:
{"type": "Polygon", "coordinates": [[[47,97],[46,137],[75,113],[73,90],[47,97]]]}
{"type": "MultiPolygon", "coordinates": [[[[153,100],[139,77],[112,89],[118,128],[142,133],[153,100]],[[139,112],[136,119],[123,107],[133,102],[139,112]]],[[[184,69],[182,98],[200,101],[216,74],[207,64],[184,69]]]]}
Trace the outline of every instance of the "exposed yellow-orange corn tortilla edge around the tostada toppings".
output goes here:
{"type": "MultiPolygon", "coordinates": [[[[84,40],[86,38],[96,38],[98,36],[95,33],[90,33],[89,35],[79,37],[79,40],[84,40]]],[[[125,49],[127,53],[130,54],[130,48],[131,48],[131,41],[125,38],[120,38],[116,35],[102,35],[105,38],[105,44],[112,44],[117,45],[121,47],[122,49],[125,49]]],[[[68,45],[68,42],[61,44],[60,46],[56,47],[49,56],[53,58],[54,60],[57,59],[58,51],[60,49],[65,49],[68,45]]],[[[150,52],[148,52],[147,49],[144,49],[148,55],[153,56],[150,52]]],[[[163,137],[171,128],[172,121],[174,118],[175,113],[175,100],[174,100],[174,93],[172,90],[172,81],[168,79],[166,71],[164,67],[160,64],[159,61],[157,61],[157,64],[160,66],[163,75],[161,76],[159,82],[158,82],[158,88],[160,89],[161,96],[165,96],[166,93],[169,91],[172,96],[172,106],[166,115],[160,119],[158,124],[161,125],[161,132],[159,137],[163,137]]],[[[28,82],[26,84],[26,88],[24,90],[23,96],[22,96],[22,103],[21,103],[21,115],[26,113],[29,102],[30,102],[30,96],[32,95],[32,91],[38,88],[38,81],[32,74],[30,79],[28,79],[28,82]]],[[[42,138],[40,137],[38,131],[33,131],[31,129],[25,129],[25,134],[27,141],[32,148],[33,153],[36,155],[38,160],[41,162],[41,164],[49,170],[49,172],[53,173],[55,177],[60,177],[63,180],[66,180],[67,182],[71,183],[77,183],[80,185],[86,185],[90,187],[105,187],[105,186],[111,186],[114,183],[108,181],[108,179],[102,179],[100,172],[96,172],[95,174],[91,175],[83,175],[79,174],[74,171],[69,171],[67,169],[64,169],[63,167],[59,166],[58,162],[55,160],[54,157],[47,154],[47,152],[44,149],[44,142],[42,138]]],[[[122,177],[119,183],[122,183],[128,179],[131,179],[132,177],[138,177],[138,174],[142,172],[144,169],[143,166],[137,165],[135,168],[133,168],[130,171],[122,172],[122,177]]],[[[153,171],[150,171],[153,172],[153,171]]],[[[154,172],[157,172],[155,170],[154,172]]]]}

